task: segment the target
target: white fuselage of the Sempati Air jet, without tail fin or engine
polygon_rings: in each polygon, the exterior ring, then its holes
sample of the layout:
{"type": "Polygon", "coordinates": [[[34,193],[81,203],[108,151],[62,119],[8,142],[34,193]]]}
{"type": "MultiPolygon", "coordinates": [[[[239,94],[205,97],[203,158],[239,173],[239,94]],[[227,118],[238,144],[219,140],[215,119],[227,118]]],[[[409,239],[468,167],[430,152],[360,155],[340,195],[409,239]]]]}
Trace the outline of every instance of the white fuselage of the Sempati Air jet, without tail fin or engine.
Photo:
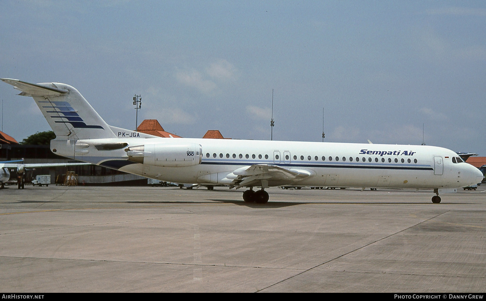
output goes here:
{"type": "Polygon", "coordinates": [[[121,138],[77,142],[53,140],[51,149],[68,158],[177,183],[232,185],[233,171],[254,164],[277,165],[310,174],[298,181],[271,179],[268,186],[292,184],[435,189],[464,187],[482,179],[481,172],[472,165],[464,162],[453,163],[452,158],[458,157],[453,151],[425,145],[121,138]],[[127,146],[117,150],[98,150],[93,146],[120,142],[126,142],[127,146]],[[165,143],[201,145],[200,164],[163,167],[128,160],[128,147],[165,143]],[[82,145],[82,149],[76,148],[75,144],[82,145]]]}

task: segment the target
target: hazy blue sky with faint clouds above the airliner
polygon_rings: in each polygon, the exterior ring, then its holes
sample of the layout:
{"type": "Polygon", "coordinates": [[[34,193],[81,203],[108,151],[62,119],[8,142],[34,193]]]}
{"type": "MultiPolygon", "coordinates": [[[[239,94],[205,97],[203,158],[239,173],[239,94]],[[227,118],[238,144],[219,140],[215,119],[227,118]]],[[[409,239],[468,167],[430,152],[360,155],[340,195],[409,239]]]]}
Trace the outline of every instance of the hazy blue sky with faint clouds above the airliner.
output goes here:
{"type": "MultiPolygon", "coordinates": [[[[0,77],[78,89],[110,125],[421,144],[486,156],[485,1],[2,0],[0,77]],[[323,114],[324,112],[324,114],[323,114]],[[424,129],[424,131],[422,131],[424,129]],[[424,133],[424,135],[422,135],[424,133]]],[[[3,132],[50,130],[0,83],[3,132]]]]}

